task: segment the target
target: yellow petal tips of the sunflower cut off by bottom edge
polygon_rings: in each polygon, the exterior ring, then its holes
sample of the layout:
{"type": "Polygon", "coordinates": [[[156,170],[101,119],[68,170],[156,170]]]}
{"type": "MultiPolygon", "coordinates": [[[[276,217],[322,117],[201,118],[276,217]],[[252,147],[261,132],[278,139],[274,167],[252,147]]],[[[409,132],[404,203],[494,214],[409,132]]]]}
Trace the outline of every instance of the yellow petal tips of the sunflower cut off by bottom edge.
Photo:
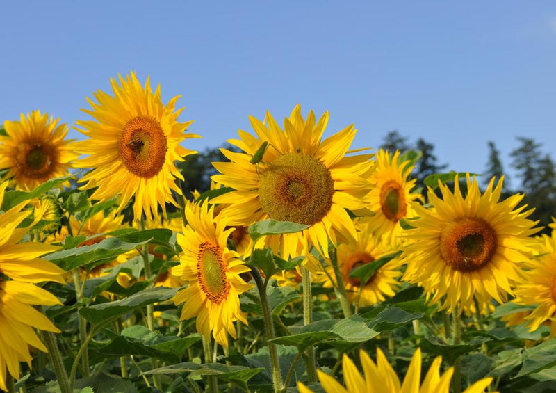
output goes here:
{"type": "MultiPolygon", "coordinates": [[[[359,351],[359,358],[363,366],[364,378],[359,374],[357,367],[347,355],[343,355],[342,369],[346,387],[343,387],[334,377],[323,371],[317,370],[320,384],[327,393],[449,393],[450,380],[454,369],[450,367],[442,376],[440,366],[442,357],[439,356],[432,362],[427,375],[420,383],[421,378],[421,351],[417,348],[403,383],[395,374],[384,353],[377,348],[377,362],[369,357],[365,351],[359,351]]],[[[492,378],[477,380],[469,386],[464,393],[481,393],[490,385],[492,378]]],[[[311,393],[303,383],[297,383],[300,393],[311,393]]]]}

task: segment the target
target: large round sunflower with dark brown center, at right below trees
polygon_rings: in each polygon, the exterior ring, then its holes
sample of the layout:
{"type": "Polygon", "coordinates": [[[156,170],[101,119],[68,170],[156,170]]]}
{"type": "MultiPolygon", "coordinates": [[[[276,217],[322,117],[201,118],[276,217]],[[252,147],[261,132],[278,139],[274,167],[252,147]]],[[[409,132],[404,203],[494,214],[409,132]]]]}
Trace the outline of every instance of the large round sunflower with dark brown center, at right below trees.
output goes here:
{"type": "Polygon", "coordinates": [[[459,306],[469,311],[474,300],[481,308],[505,303],[510,286],[519,280],[518,263],[528,259],[535,223],[527,217],[532,210],[516,209],[523,195],[500,200],[503,177],[494,178],[483,194],[477,180],[467,175],[467,195],[454,181],[454,192],[439,182],[443,200],[432,189],[428,193],[434,209],[414,205],[420,218],[407,230],[414,241],[405,248],[407,271],[404,280],[422,286],[430,303],[453,312],[459,306]],[[445,300],[441,300],[445,296],[445,300]]]}

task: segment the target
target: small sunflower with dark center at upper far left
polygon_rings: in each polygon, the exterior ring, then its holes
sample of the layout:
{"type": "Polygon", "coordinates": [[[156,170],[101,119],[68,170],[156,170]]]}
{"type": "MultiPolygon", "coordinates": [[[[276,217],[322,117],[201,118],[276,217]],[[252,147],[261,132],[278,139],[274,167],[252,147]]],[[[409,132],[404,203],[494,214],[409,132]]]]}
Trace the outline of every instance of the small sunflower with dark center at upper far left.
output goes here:
{"type": "Polygon", "coordinates": [[[23,113],[18,121],[4,122],[6,135],[0,135],[0,169],[13,179],[17,189],[29,191],[55,177],[68,174],[70,161],[77,157],[68,146],[67,125],[49,119],[48,113],[23,113]]]}

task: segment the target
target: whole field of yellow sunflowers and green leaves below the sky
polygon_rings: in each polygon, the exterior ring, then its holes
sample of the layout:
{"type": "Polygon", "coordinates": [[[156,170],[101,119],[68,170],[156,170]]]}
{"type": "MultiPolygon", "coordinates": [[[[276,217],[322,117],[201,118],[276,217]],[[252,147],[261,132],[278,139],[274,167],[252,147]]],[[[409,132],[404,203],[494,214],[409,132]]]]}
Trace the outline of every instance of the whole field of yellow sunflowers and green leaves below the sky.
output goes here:
{"type": "Polygon", "coordinates": [[[178,97],[111,86],[79,141],[0,129],[0,390],[556,392],[556,220],[503,177],[418,187],[419,151],[297,105],[184,192],[178,97]]]}

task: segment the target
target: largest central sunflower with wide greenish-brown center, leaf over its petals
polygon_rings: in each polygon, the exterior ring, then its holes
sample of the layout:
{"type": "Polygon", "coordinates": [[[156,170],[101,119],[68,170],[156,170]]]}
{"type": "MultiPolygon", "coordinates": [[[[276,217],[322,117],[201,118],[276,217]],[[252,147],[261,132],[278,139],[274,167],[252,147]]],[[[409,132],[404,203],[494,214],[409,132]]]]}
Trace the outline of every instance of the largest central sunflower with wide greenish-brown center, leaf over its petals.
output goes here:
{"type": "Polygon", "coordinates": [[[215,182],[235,190],[212,200],[229,204],[222,214],[230,225],[267,218],[309,225],[302,232],[267,237],[266,245],[283,258],[305,254],[309,243],[328,255],[329,240],[357,236],[346,209],[368,207],[373,156],[345,155],[356,133],[353,125],[322,141],[328,113],[318,122],[313,111],[304,119],[299,105],[284,119],[284,130],[268,112],[264,124],[252,117],[250,122],[256,136],[240,130],[240,139],[229,141],[243,152],[222,149],[231,162],[213,163],[221,173],[213,176],[215,182]],[[261,161],[251,163],[263,143],[268,148],[261,161]]]}

